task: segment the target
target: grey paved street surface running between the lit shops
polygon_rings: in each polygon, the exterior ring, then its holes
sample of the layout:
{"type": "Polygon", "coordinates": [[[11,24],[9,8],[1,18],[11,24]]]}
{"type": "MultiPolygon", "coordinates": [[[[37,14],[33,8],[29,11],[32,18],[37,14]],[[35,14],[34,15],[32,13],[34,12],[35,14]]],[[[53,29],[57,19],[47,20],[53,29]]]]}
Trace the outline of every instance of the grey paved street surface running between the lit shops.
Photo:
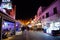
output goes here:
{"type": "Polygon", "coordinates": [[[33,31],[25,31],[21,35],[16,35],[12,37],[10,40],[60,40],[59,36],[50,36],[43,32],[33,32],[33,31]]]}

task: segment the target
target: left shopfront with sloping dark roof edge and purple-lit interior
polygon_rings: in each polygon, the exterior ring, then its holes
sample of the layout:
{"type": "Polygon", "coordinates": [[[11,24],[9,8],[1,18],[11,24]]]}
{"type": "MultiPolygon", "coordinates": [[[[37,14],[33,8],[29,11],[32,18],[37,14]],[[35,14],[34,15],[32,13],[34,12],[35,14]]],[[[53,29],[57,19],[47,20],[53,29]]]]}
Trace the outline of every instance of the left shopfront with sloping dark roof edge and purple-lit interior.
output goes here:
{"type": "Polygon", "coordinates": [[[0,16],[1,39],[15,35],[15,20],[1,11],[0,16]]]}

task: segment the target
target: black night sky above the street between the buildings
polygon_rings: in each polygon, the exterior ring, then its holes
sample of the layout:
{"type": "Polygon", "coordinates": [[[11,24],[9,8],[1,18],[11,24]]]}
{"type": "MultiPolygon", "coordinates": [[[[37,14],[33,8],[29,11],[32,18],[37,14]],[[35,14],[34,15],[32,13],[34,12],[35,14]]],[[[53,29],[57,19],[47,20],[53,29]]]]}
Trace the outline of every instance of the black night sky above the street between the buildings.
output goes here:
{"type": "Polygon", "coordinates": [[[13,0],[16,4],[16,19],[29,19],[36,13],[39,6],[48,6],[54,0],[13,0]]]}

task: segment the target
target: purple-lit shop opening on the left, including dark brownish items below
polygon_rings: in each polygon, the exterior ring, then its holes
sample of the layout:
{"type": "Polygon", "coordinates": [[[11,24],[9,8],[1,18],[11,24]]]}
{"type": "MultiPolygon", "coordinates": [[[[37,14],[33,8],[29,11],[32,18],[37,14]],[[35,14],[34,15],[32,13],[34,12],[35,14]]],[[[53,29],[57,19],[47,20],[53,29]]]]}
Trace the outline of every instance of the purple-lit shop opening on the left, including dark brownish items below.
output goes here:
{"type": "Polygon", "coordinates": [[[2,34],[6,32],[7,37],[14,35],[14,22],[3,20],[2,23],[2,34]]]}

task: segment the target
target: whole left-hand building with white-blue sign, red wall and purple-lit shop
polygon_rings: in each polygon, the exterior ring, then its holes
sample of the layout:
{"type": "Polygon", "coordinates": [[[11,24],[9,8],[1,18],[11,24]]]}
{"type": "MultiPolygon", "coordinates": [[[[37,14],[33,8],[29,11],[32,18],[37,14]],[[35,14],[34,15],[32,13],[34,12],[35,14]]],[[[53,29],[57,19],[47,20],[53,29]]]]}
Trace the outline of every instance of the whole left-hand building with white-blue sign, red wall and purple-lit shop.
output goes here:
{"type": "Polygon", "coordinates": [[[2,0],[0,5],[0,40],[15,35],[15,12],[16,6],[13,8],[10,0],[2,0]]]}

